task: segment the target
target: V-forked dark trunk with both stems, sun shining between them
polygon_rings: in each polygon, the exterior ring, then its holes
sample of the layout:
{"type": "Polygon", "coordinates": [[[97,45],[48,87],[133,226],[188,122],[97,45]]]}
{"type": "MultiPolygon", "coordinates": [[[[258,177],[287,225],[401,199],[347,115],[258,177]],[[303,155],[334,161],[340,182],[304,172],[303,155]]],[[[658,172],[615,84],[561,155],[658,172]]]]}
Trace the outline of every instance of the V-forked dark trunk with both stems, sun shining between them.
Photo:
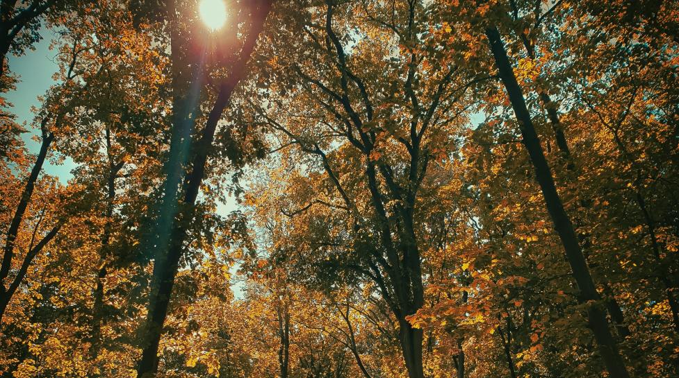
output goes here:
{"type": "MultiPolygon", "coordinates": [[[[156,230],[158,239],[156,245],[149,246],[154,251],[154,280],[149,297],[149,313],[141,336],[142,356],[137,369],[138,377],[153,376],[158,368],[158,343],[167,316],[167,307],[170,303],[174,277],[179,268],[179,259],[183,250],[188,223],[193,218],[193,207],[199,193],[200,184],[204,179],[206,160],[212,148],[215,130],[224,108],[229,104],[231,94],[246,74],[247,61],[256,46],[259,33],[270,10],[271,1],[258,1],[249,4],[249,6],[243,6],[243,12],[249,15],[246,24],[247,29],[241,31],[245,34],[245,39],[242,44],[228,46],[229,50],[224,52],[227,55],[227,62],[222,61],[221,63],[227,63],[227,67],[230,66],[229,73],[226,78],[220,80],[217,98],[208,114],[202,134],[195,142],[195,146],[192,146],[191,155],[187,155],[187,150],[188,144],[190,144],[190,132],[193,129],[199,106],[197,96],[202,87],[200,80],[202,80],[204,73],[202,72],[202,62],[193,62],[193,67],[190,64],[185,67],[177,67],[177,65],[182,64],[180,56],[184,55],[184,58],[186,58],[187,53],[186,51],[178,51],[181,49],[180,41],[188,35],[186,31],[181,31],[182,21],[177,19],[178,10],[174,6],[177,6],[177,4],[171,4],[169,15],[172,30],[172,60],[170,64],[174,71],[172,142],[170,144],[170,159],[165,164],[167,177],[163,187],[162,212],[157,220],[159,225],[156,230]],[[188,96],[181,89],[184,86],[181,83],[181,80],[183,80],[181,70],[186,69],[197,70],[197,77],[193,78],[188,96]],[[185,174],[183,164],[186,164],[188,160],[191,161],[191,168],[185,174]],[[181,189],[179,189],[180,184],[181,189]],[[166,232],[167,234],[165,234],[166,232]]],[[[179,12],[179,15],[181,15],[181,12],[179,12]]],[[[245,17],[243,18],[245,19],[245,17]]],[[[237,33],[238,26],[234,27],[233,31],[237,33]]],[[[235,35],[228,35],[227,37],[238,41],[235,35]]]]}

